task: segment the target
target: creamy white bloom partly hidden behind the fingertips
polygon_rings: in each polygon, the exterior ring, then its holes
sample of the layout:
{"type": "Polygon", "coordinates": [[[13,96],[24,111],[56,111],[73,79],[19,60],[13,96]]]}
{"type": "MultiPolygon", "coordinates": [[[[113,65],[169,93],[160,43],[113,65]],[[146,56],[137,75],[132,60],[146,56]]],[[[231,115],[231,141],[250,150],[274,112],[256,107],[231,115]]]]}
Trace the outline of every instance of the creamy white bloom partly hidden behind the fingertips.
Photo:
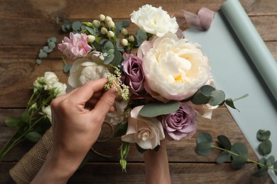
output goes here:
{"type": "Polygon", "coordinates": [[[102,63],[100,58],[100,54],[91,52],[87,57],[76,59],[70,69],[70,76],[68,78],[69,88],[77,88],[87,81],[107,77],[106,67],[100,64],[102,63]]]}

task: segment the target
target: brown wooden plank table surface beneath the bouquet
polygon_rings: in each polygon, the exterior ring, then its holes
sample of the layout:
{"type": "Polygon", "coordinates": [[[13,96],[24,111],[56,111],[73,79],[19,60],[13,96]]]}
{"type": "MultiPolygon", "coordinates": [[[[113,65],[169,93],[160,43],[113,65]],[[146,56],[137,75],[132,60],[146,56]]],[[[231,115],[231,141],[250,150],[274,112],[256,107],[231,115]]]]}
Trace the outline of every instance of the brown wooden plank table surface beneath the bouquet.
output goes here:
{"type": "MultiPolygon", "coordinates": [[[[152,1],[92,1],[92,0],[1,0],[0,1],[0,147],[4,145],[12,130],[4,126],[4,118],[23,112],[30,87],[38,76],[45,71],[54,71],[60,81],[67,81],[63,74],[62,54],[55,50],[39,67],[35,67],[38,51],[47,38],[55,36],[60,42],[67,33],[60,31],[55,18],[92,21],[100,13],[111,16],[114,21],[130,20],[130,13],[144,4],[162,6],[173,15],[183,8],[192,13],[205,6],[217,11],[223,0],[152,0],[152,1]]],[[[241,0],[251,21],[266,42],[269,50],[277,59],[277,1],[241,0]]],[[[136,29],[131,25],[130,31],[136,29]]],[[[257,160],[254,151],[241,133],[226,107],[214,110],[212,120],[199,118],[198,132],[205,131],[217,137],[224,134],[232,142],[244,142],[249,148],[251,159],[257,160]]],[[[9,176],[12,168],[33,144],[23,142],[13,149],[0,163],[0,183],[13,183],[9,176]]],[[[97,144],[97,151],[112,155],[104,158],[92,153],[89,163],[77,171],[68,183],[144,183],[143,157],[131,146],[128,158],[128,173],[119,166],[119,139],[97,144]]],[[[217,165],[218,152],[210,156],[198,156],[195,153],[195,137],[180,142],[168,142],[168,157],[172,183],[273,183],[269,176],[254,178],[256,165],[246,163],[239,171],[230,168],[229,163],[217,165]]]]}

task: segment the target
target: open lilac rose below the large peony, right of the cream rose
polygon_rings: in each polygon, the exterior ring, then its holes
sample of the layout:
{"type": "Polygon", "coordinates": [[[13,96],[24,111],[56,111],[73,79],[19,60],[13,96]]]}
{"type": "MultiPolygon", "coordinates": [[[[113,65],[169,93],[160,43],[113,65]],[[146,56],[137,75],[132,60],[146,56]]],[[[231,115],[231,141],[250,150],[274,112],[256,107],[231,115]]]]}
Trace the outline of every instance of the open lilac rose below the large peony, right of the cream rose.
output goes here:
{"type": "Polygon", "coordinates": [[[175,113],[162,115],[160,120],[165,133],[168,134],[170,139],[189,139],[196,132],[197,118],[195,110],[185,103],[181,103],[180,108],[175,113]]]}

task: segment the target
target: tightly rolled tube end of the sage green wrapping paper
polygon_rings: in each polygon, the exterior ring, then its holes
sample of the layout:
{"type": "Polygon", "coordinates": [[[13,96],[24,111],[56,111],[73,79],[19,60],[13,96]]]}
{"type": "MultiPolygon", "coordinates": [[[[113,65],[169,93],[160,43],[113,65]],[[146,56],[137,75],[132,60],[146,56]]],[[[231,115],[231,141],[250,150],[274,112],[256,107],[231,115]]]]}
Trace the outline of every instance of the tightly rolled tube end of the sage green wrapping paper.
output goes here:
{"type": "Polygon", "coordinates": [[[251,58],[251,62],[254,63],[266,86],[277,100],[277,62],[251,23],[244,8],[239,1],[232,0],[224,2],[221,10],[251,58]]]}

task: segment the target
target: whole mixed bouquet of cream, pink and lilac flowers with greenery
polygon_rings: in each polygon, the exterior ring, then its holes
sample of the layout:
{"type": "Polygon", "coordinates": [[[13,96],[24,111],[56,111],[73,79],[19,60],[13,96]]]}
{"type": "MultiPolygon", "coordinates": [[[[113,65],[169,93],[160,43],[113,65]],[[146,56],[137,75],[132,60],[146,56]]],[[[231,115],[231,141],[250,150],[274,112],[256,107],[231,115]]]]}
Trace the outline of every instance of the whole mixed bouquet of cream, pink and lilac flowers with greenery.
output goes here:
{"type": "Polygon", "coordinates": [[[146,4],[131,13],[131,22],[139,27],[136,34],[128,32],[128,23],[101,14],[58,44],[74,60],[68,90],[106,77],[105,88],[113,87],[121,96],[105,122],[121,136],[124,170],[129,144],[140,152],[158,150],[162,139],[190,139],[197,115],[211,118],[218,105],[235,108],[234,100],[214,88],[208,57],[199,44],[183,37],[175,17],[146,4]]]}

